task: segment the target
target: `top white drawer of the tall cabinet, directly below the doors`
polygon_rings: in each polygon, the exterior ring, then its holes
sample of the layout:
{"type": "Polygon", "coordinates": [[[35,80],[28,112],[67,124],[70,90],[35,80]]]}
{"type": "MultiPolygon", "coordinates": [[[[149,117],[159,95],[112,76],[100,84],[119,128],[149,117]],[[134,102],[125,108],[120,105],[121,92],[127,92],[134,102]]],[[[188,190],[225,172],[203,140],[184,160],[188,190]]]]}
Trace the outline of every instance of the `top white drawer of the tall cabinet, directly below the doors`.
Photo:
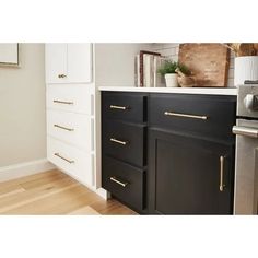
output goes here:
{"type": "Polygon", "coordinates": [[[93,115],[93,95],[86,85],[50,84],[47,86],[47,107],[93,115]]]}

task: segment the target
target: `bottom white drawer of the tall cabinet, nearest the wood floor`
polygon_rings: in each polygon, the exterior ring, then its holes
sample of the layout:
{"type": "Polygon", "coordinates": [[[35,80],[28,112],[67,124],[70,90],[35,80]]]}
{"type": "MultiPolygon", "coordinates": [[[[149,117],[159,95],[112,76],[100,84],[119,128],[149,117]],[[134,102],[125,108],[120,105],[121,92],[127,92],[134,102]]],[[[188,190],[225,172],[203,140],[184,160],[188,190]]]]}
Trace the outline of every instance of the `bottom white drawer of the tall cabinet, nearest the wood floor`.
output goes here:
{"type": "Polygon", "coordinates": [[[51,137],[47,138],[47,157],[56,166],[84,185],[93,185],[93,156],[51,137]]]}

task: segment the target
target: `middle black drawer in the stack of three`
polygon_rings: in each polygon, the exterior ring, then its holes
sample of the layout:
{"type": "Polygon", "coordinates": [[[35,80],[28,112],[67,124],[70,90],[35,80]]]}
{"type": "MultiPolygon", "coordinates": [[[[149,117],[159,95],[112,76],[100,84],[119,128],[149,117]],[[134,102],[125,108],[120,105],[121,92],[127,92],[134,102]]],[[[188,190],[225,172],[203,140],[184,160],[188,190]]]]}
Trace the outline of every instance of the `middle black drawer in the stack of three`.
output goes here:
{"type": "Polygon", "coordinates": [[[145,165],[145,127],[119,121],[103,125],[103,152],[137,166],[145,165]]]}

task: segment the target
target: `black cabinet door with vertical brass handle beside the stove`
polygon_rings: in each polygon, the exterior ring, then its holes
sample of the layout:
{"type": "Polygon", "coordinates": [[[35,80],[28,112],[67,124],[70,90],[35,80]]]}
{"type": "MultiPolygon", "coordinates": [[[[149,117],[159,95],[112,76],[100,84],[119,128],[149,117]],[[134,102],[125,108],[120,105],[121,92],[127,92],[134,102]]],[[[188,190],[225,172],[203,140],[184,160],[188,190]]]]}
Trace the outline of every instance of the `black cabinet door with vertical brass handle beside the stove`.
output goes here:
{"type": "Polygon", "coordinates": [[[154,129],[149,137],[150,213],[232,214],[234,145],[154,129]]]}

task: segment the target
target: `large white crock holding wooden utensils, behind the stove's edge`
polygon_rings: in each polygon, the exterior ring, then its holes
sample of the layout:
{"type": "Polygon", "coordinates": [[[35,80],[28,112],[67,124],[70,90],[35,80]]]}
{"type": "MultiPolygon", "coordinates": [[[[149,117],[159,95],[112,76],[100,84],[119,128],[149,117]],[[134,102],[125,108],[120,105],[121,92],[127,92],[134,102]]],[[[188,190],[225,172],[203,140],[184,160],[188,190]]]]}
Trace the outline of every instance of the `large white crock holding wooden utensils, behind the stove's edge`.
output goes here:
{"type": "Polygon", "coordinates": [[[258,80],[258,56],[235,58],[235,86],[244,85],[245,80],[258,80]]]}

